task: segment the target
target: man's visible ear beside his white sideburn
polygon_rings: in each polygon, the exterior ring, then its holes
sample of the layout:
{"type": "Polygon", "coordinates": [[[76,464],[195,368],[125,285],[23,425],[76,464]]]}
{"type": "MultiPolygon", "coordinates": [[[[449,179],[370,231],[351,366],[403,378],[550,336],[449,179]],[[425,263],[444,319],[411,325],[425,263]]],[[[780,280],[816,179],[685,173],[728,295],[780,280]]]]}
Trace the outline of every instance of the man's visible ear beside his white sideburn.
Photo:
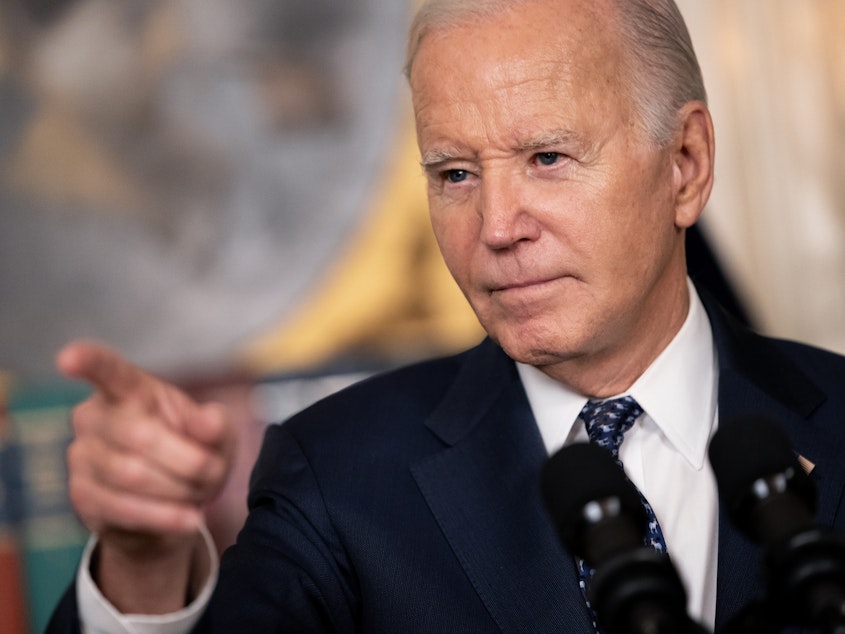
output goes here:
{"type": "Polygon", "coordinates": [[[678,111],[680,126],[672,151],[675,225],[688,228],[701,215],[713,189],[716,139],[707,105],[691,101],[678,111]]]}

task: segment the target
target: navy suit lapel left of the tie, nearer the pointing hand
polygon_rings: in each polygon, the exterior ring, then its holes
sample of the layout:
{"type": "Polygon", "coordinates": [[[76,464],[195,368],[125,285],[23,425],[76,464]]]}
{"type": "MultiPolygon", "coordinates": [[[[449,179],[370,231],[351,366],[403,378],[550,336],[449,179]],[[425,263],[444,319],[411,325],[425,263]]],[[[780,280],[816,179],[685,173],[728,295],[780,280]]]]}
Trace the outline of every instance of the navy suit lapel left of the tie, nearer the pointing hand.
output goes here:
{"type": "Polygon", "coordinates": [[[477,348],[428,425],[448,446],[414,477],[501,630],[589,631],[542,508],[546,452],[513,363],[492,343],[477,348]]]}

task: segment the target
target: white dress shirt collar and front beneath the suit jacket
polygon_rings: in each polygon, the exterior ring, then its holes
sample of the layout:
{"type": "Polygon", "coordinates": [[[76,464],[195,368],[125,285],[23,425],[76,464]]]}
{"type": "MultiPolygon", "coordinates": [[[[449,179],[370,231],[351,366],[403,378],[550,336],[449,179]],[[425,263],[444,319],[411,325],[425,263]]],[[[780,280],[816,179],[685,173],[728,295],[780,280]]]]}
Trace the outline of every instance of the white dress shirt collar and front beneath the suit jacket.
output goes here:
{"type": "MultiPolygon", "coordinates": [[[[624,393],[645,413],[625,433],[619,457],[654,509],[686,587],[690,616],[712,631],[718,493],[707,446],[716,430],[719,377],[707,313],[692,283],[688,285],[690,310],[681,330],[624,393]]],[[[588,441],[579,418],[587,398],[532,366],[517,368],[549,454],[588,441]]]]}

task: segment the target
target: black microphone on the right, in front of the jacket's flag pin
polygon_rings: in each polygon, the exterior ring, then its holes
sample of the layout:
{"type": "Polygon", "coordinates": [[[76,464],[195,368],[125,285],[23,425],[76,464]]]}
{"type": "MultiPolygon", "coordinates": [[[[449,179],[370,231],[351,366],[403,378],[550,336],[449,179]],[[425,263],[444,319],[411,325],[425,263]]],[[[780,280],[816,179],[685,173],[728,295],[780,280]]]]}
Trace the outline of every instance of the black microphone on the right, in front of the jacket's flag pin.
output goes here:
{"type": "Polygon", "coordinates": [[[845,540],[816,523],[815,486],[781,426],[760,416],[729,421],[709,455],[728,517],[765,549],[767,598],[739,615],[736,631],[845,632],[845,540]]]}

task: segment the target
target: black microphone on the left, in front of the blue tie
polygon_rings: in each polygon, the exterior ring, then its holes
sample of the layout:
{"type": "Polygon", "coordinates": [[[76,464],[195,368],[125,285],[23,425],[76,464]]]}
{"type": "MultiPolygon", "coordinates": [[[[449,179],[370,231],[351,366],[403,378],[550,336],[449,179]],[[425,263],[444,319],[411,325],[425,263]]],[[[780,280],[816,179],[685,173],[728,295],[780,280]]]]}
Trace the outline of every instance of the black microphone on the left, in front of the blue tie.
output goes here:
{"type": "Polygon", "coordinates": [[[607,450],[564,447],[543,465],[540,488],[564,547],[595,571],[587,596],[603,632],[703,631],[668,555],[644,544],[639,493],[607,450]]]}

